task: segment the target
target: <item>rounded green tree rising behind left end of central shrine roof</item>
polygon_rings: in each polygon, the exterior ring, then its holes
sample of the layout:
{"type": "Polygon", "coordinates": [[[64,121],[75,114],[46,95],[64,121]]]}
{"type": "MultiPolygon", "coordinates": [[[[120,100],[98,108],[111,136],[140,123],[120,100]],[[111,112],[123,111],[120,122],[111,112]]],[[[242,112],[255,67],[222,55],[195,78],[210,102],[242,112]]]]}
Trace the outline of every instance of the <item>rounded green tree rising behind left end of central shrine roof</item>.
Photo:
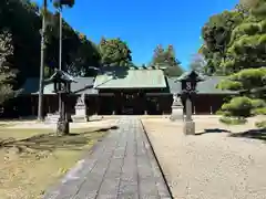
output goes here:
{"type": "Polygon", "coordinates": [[[129,66],[132,61],[131,50],[127,44],[119,38],[102,38],[99,44],[101,64],[103,66],[129,66]]]}

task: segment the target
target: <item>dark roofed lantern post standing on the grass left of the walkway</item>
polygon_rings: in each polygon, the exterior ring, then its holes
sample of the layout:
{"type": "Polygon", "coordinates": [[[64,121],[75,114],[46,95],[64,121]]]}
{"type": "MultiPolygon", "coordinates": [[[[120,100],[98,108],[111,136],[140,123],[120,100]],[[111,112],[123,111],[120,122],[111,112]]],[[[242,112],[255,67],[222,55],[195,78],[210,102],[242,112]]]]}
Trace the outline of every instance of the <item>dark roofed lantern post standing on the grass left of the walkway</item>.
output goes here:
{"type": "Polygon", "coordinates": [[[45,82],[53,83],[54,93],[57,93],[59,96],[59,121],[57,126],[57,134],[69,134],[69,119],[65,117],[65,98],[71,93],[71,83],[75,82],[74,77],[61,70],[55,70],[53,75],[45,82]]]}

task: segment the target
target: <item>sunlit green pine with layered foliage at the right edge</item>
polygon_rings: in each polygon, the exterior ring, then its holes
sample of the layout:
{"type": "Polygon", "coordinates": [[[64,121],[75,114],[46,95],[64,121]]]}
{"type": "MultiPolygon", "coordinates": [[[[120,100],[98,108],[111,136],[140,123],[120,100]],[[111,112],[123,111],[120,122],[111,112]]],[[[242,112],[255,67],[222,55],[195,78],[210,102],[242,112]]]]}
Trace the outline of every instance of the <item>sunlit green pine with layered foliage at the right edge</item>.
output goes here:
{"type": "MultiPolygon", "coordinates": [[[[252,115],[266,114],[266,1],[258,0],[245,9],[228,11],[233,23],[223,52],[219,52],[223,59],[215,69],[215,72],[223,71],[227,75],[218,84],[219,88],[239,91],[242,94],[222,106],[224,116],[228,117],[222,122],[227,123],[234,118],[245,121],[252,115]],[[239,20],[235,20],[236,17],[241,17],[237,18],[239,20]]],[[[215,54],[217,50],[211,46],[216,45],[207,45],[207,38],[204,41],[205,49],[202,48],[201,52],[215,54]]],[[[213,60],[214,57],[208,56],[209,62],[213,60]]]]}

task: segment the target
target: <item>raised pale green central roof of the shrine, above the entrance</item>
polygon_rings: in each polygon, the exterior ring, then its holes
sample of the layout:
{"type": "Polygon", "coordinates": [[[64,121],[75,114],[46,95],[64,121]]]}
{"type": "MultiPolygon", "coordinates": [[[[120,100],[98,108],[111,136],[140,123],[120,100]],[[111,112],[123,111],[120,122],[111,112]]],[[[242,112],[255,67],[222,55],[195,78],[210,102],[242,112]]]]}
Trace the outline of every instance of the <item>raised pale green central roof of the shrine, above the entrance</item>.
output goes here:
{"type": "Polygon", "coordinates": [[[166,87],[161,70],[121,70],[96,76],[94,88],[161,88],[166,87]]]}

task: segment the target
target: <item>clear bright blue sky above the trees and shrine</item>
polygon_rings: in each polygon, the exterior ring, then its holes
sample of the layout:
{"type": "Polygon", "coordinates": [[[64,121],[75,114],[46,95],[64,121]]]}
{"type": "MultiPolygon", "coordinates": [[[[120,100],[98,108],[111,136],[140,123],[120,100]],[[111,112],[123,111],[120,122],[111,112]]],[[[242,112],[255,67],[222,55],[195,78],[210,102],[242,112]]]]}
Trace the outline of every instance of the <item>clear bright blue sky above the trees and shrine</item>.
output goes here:
{"type": "MultiPolygon", "coordinates": [[[[42,0],[37,0],[41,2],[42,0]]],[[[201,28],[215,13],[238,0],[75,0],[64,19],[88,39],[121,38],[132,50],[135,64],[149,63],[157,44],[173,44],[187,67],[201,46],[201,28]]]]}

